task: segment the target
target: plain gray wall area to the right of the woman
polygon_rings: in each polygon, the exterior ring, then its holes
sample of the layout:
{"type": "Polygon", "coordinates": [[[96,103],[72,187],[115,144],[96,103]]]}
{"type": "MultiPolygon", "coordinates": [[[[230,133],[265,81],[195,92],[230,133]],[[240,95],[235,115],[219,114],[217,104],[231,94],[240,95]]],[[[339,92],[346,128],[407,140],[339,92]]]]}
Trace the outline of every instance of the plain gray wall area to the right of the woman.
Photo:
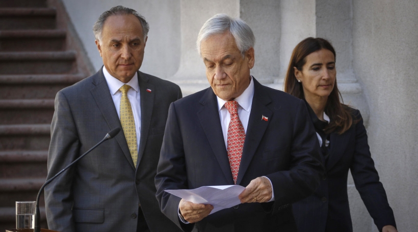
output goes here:
{"type": "Polygon", "coordinates": [[[369,144],[399,231],[418,227],[417,28],[416,0],[353,1],[353,68],[369,103],[369,144]]]}

